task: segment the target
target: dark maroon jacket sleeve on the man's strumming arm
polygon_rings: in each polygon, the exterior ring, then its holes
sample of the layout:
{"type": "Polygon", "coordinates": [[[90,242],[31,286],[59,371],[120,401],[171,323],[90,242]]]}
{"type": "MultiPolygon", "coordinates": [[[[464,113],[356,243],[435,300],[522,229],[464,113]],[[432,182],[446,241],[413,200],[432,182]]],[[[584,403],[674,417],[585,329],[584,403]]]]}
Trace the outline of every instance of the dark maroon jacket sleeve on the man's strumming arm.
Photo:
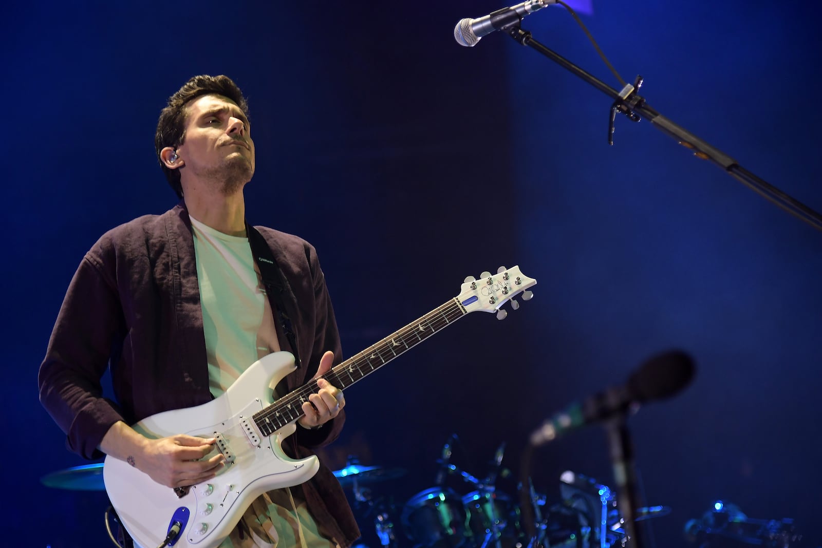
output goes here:
{"type": "Polygon", "coordinates": [[[100,378],[117,352],[122,307],[112,279],[90,254],[81,261],[63,299],[39,369],[40,403],[67,435],[67,448],[100,458],[103,436],[122,414],[103,397],[100,378]]]}

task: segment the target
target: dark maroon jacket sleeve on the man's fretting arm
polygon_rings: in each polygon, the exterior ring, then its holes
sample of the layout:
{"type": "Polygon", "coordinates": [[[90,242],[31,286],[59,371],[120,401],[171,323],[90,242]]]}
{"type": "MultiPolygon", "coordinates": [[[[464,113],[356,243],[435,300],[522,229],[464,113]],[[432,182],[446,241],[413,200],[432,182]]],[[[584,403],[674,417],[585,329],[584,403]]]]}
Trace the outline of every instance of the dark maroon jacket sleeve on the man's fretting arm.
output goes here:
{"type": "MultiPolygon", "coordinates": [[[[320,261],[316,256],[316,251],[310,244],[307,244],[306,256],[312,274],[314,292],[314,337],[311,354],[305,364],[305,381],[310,382],[320,366],[320,358],[327,350],[334,352],[334,366],[342,361],[343,350],[339,341],[339,330],[337,329],[337,321],[335,320],[334,307],[331,305],[328,288],[326,287],[326,278],[320,268],[320,261]]],[[[298,306],[302,305],[298,303],[298,306]]],[[[308,449],[330,444],[339,437],[344,422],[345,410],[342,409],[339,415],[316,430],[307,430],[301,426],[297,426],[296,437],[298,444],[308,449]]]]}

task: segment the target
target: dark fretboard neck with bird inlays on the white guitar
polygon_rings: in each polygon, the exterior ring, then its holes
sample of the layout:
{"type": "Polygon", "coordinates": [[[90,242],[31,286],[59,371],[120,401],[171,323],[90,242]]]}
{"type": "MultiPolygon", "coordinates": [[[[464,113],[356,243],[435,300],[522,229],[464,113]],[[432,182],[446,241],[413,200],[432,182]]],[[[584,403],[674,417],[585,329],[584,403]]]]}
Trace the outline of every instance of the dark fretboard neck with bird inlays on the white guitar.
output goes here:
{"type": "MultiPolygon", "coordinates": [[[[349,357],[323,375],[323,378],[339,389],[346,389],[467,313],[459,299],[450,299],[380,342],[372,344],[363,352],[349,357]]],[[[254,414],[256,426],[263,435],[271,435],[297,420],[304,414],[302,403],[307,402],[309,394],[315,394],[318,389],[316,380],[312,380],[279,398],[275,403],[254,414]]]]}

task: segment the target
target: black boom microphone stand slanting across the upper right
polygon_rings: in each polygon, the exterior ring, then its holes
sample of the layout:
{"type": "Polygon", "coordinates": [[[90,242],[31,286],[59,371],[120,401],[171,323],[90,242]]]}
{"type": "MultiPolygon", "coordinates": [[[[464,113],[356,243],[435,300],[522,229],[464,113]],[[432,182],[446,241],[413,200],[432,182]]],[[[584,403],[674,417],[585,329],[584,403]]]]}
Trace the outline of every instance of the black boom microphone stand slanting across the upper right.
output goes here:
{"type": "Polygon", "coordinates": [[[611,86],[605,84],[603,81],[599,81],[588,72],[582,70],[580,67],[577,67],[566,58],[561,57],[558,53],[546,48],[543,44],[540,44],[537,40],[533,39],[533,36],[529,30],[522,30],[520,25],[511,25],[502,30],[504,30],[511,38],[515,39],[520,44],[536,49],[545,57],[552,59],[552,61],[555,61],[561,65],[561,67],[565,67],[576,76],[580,76],[580,78],[584,81],[587,81],[589,84],[593,85],[593,87],[614,99],[614,104],[611,107],[610,124],[608,127],[608,142],[610,144],[613,144],[612,136],[614,119],[617,115],[617,111],[625,114],[632,122],[639,122],[641,119],[641,114],[642,116],[648,118],[649,122],[651,122],[654,127],[657,127],[660,131],[663,131],[663,133],[667,133],[668,136],[672,136],[674,139],[679,141],[680,145],[686,147],[687,149],[693,150],[694,155],[697,158],[710,159],[720,168],[723,168],[725,173],[742,182],[747,187],[750,187],[751,190],[755,191],[760,196],[763,196],[766,200],[769,200],[782,210],[787,211],[787,213],[797,217],[797,219],[801,219],[802,221],[810,224],[810,226],[822,231],[822,215],[814,210],[811,210],[799,200],[792,198],[792,196],[788,196],[783,191],[780,191],[778,188],[770,185],[768,182],[765,182],[754,173],[750,173],[747,169],[742,168],[736,160],[723,153],[722,150],[714,148],[704,140],[701,140],[699,137],[686,131],[676,123],[668,120],[666,117],[663,117],[660,113],[653,110],[653,108],[650,108],[649,105],[645,103],[645,99],[636,93],[636,91],[640,88],[640,85],[642,85],[641,76],[637,76],[634,85],[628,84],[623,90],[617,91],[611,86]]]}

